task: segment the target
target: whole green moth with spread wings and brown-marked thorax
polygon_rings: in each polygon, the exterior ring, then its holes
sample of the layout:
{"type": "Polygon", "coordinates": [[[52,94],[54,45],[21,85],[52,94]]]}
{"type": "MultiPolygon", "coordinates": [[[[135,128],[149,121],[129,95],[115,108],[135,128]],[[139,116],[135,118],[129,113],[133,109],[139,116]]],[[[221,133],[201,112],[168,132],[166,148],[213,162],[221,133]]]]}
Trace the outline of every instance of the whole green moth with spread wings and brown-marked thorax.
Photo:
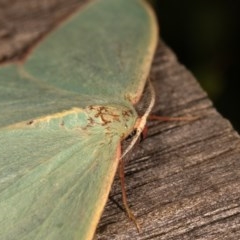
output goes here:
{"type": "Polygon", "coordinates": [[[140,0],[92,1],[0,68],[0,239],[92,239],[157,44],[140,0]]]}

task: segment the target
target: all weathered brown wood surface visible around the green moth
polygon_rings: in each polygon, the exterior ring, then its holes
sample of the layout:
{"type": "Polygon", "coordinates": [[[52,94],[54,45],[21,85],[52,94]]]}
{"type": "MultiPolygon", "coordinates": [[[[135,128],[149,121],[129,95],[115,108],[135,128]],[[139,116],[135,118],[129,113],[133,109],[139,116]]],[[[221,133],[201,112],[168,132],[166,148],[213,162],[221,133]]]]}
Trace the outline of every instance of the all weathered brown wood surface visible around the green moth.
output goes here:
{"type": "MultiPolygon", "coordinates": [[[[0,0],[0,61],[17,59],[79,5],[77,0],[0,0]]],[[[122,211],[118,177],[95,238],[240,239],[240,139],[175,55],[160,43],[152,67],[154,113],[194,115],[149,122],[126,166],[137,233],[122,211]]]]}

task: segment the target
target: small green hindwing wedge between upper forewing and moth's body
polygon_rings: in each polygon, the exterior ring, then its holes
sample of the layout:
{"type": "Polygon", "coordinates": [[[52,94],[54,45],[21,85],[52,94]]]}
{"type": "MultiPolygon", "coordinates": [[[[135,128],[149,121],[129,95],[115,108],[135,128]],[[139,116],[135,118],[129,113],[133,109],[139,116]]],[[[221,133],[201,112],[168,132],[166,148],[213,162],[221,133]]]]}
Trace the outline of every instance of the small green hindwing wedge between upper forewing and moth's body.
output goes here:
{"type": "Polygon", "coordinates": [[[28,78],[15,65],[0,68],[0,128],[101,102],[28,78]]]}

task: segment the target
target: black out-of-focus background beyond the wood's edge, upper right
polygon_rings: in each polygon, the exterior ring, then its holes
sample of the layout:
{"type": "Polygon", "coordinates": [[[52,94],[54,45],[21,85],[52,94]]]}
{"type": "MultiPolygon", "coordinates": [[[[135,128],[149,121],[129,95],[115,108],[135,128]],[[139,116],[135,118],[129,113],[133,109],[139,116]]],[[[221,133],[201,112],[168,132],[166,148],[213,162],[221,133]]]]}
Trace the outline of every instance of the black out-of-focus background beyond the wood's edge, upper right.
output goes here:
{"type": "Polygon", "coordinates": [[[151,0],[161,38],[207,91],[217,110],[240,132],[237,0],[151,0]]]}

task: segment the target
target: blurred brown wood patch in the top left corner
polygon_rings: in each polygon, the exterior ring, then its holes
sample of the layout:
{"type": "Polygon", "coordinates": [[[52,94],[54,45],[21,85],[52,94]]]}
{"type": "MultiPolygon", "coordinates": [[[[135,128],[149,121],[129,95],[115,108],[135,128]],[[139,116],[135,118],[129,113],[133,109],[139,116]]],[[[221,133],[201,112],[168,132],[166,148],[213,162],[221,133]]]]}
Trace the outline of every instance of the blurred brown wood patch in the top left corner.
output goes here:
{"type": "Polygon", "coordinates": [[[31,46],[89,0],[0,0],[0,63],[31,46]]]}

